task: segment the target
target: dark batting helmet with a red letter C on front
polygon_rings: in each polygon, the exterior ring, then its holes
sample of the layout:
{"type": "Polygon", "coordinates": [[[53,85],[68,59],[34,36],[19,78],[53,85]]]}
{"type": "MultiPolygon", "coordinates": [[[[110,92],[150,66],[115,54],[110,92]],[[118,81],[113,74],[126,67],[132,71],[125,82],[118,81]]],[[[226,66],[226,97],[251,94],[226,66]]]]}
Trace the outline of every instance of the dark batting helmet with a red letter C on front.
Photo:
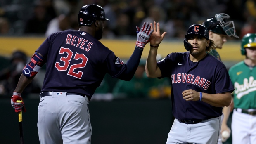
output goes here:
{"type": "Polygon", "coordinates": [[[194,34],[201,35],[205,37],[206,40],[209,40],[209,33],[207,28],[201,24],[193,24],[188,28],[187,34],[185,35],[185,39],[184,39],[184,47],[187,51],[191,49],[191,44],[187,42],[187,39],[189,38],[189,36],[194,34]]]}

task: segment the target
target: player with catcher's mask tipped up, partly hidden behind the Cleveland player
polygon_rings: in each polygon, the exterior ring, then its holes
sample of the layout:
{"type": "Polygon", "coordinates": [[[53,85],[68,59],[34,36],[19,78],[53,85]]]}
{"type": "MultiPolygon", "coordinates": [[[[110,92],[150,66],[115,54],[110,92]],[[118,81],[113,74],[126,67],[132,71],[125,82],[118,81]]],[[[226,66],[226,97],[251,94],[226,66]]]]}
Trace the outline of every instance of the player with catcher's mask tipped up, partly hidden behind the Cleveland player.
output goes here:
{"type": "MultiPolygon", "coordinates": [[[[203,25],[208,29],[209,31],[209,38],[210,40],[213,40],[216,44],[216,47],[213,48],[209,54],[213,55],[214,57],[218,58],[221,61],[220,54],[216,51],[216,48],[222,49],[222,46],[225,42],[227,42],[227,37],[234,37],[239,38],[235,32],[235,25],[233,21],[230,21],[230,16],[228,14],[220,13],[215,14],[214,17],[211,17],[203,22],[203,25]]],[[[233,101],[231,102],[230,106],[223,108],[223,115],[221,117],[222,125],[221,125],[221,131],[230,131],[230,128],[227,125],[227,121],[230,115],[230,111],[233,110],[233,101]],[[225,116],[225,117],[224,117],[225,116]]],[[[222,142],[225,142],[228,139],[228,137],[223,138],[221,135],[219,137],[218,144],[222,144],[222,142]]]]}

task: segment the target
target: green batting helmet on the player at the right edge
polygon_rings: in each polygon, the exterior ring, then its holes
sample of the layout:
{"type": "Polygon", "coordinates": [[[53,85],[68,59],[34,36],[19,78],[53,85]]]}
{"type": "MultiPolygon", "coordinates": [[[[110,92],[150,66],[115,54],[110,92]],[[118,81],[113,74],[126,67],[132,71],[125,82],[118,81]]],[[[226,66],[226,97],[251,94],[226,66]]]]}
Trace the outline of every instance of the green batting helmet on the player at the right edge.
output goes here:
{"type": "Polygon", "coordinates": [[[256,33],[247,33],[244,35],[241,41],[241,54],[246,55],[245,48],[247,47],[256,47],[256,33]]]}

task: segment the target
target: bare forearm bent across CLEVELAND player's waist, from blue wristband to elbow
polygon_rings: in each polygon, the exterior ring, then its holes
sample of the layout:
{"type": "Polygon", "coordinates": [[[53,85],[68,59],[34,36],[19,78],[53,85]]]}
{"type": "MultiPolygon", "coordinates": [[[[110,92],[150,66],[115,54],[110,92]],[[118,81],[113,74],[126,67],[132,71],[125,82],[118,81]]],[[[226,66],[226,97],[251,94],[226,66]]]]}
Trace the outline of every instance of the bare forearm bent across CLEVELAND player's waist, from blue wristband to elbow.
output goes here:
{"type": "Polygon", "coordinates": [[[224,94],[206,94],[202,93],[202,101],[212,106],[222,107],[222,106],[229,106],[231,102],[231,93],[224,93],[224,94]]]}

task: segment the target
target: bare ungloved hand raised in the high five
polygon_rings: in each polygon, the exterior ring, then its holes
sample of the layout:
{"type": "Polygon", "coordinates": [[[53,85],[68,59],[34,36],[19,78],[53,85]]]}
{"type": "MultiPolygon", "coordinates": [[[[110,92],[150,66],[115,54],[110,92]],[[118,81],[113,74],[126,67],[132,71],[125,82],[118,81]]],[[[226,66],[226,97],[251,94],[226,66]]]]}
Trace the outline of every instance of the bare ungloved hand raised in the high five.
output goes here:
{"type": "Polygon", "coordinates": [[[166,32],[164,32],[162,35],[160,35],[159,23],[157,23],[157,27],[156,27],[156,22],[155,21],[154,21],[154,28],[153,28],[152,23],[150,23],[150,25],[151,25],[151,29],[154,30],[151,37],[149,38],[150,45],[158,46],[162,42],[162,40],[164,39],[164,35],[166,34],[166,32]]]}

